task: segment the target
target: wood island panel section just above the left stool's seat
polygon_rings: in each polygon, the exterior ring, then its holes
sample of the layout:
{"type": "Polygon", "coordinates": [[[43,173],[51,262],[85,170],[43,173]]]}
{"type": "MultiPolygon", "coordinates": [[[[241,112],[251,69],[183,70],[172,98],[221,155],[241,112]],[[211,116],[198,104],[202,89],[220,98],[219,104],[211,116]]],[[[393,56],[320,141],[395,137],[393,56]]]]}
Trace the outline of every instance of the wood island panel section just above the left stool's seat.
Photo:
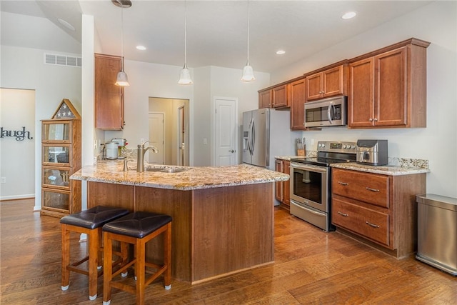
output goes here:
{"type": "Polygon", "coordinates": [[[87,208],[99,205],[134,211],[134,186],[88,181],[87,208]]]}

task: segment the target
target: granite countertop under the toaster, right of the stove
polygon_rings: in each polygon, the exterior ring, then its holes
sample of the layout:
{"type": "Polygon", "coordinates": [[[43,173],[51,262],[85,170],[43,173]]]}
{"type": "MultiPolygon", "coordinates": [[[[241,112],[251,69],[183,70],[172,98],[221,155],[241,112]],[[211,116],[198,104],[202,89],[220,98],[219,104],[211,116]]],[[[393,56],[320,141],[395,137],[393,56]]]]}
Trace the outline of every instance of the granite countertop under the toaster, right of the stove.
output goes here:
{"type": "Polygon", "coordinates": [[[365,164],[358,164],[356,162],[333,163],[330,164],[330,166],[338,169],[352,169],[354,171],[366,171],[367,173],[383,174],[389,176],[423,174],[430,172],[429,169],[419,167],[405,167],[396,165],[371,166],[365,164]]]}

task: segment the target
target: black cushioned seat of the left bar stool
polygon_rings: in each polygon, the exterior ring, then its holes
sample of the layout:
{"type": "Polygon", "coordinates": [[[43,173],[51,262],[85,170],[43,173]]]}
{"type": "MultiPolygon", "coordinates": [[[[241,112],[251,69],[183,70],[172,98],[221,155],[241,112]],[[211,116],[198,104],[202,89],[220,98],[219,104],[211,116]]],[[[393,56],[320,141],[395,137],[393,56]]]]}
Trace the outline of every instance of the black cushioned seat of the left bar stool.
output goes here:
{"type": "Polygon", "coordinates": [[[91,209],[64,216],[60,219],[60,223],[82,226],[86,229],[95,229],[126,214],[129,214],[129,210],[127,209],[112,208],[110,206],[94,206],[91,209]]]}

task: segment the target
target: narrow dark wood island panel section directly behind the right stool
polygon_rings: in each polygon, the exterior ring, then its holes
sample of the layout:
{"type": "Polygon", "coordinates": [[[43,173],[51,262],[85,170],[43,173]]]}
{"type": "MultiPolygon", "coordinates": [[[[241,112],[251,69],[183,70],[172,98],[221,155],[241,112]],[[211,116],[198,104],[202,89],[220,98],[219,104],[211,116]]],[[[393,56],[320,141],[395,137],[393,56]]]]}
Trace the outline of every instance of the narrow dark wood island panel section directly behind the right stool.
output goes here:
{"type": "MultiPolygon", "coordinates": [[[[171,276],[191,281],[191,191],[135,186],[135,211],[167,214],[171,222],[171,276]]],[[[146,245],[146,256],[156,264],[163,262],[164,236],[146,245]]]]}

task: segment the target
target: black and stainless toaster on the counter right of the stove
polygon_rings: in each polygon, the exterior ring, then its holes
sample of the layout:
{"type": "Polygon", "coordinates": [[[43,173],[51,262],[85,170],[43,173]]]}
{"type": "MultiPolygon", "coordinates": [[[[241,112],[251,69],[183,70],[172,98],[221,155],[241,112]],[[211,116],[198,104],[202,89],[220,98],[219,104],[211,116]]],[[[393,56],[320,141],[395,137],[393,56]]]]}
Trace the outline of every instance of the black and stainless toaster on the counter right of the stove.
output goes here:
{"type": "Polygon", "coordinates": [[[357,163],[366,165],[387,165],[387,140],[357,140],[357,163]]]}

